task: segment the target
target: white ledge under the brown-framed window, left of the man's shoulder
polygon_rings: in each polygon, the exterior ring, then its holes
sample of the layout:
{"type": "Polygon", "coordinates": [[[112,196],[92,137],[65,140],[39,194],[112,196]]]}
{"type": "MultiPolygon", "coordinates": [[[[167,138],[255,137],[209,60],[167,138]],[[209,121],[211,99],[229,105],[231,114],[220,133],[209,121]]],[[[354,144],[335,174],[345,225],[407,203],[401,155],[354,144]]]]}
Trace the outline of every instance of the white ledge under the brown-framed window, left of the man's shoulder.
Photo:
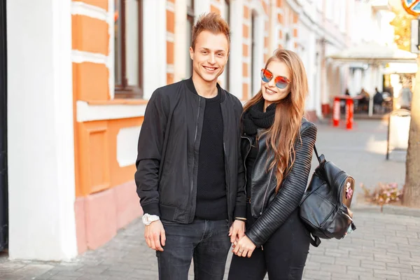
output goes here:
{"type": "Polygon", "coordinates": [[[76,102],[76,120],[78,123],[92,120],[116,120],[144,116],[146,104],[109,104],[90,105],[78,100],[76,102]]]}

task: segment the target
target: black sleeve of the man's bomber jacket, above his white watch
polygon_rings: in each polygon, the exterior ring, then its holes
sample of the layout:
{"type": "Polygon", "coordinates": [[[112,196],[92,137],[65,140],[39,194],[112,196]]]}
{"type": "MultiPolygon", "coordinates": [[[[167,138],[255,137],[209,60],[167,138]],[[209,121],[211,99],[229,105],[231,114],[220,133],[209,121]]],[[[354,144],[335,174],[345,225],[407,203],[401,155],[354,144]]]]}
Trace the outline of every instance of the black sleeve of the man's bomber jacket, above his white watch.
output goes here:
{"type": "Polygon", "coordinates": [[[159,169],[162,158],[165,131],[167,126],[167,102],[163,94],[156,90],[144,114],[139,135],[137,153],[137,172],[134,179],[137,195],[144,213],[160,216],[159,210],[159,169]]]}

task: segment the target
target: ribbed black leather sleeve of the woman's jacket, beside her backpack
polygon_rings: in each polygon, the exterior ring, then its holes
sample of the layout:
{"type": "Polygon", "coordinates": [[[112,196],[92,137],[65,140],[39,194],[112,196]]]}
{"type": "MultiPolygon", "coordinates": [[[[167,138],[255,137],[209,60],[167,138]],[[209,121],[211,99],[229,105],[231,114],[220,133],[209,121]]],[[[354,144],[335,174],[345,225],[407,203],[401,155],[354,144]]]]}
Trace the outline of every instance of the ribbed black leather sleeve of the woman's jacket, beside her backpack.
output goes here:
{"type": "Polygon", "coordinates": [[[245,232],[255,246],[262,246],[271,235],[287,220],[288,216],[299,206],[307,187],[311,170],[312,151],[316,141],[316,126],[311,124],[304,128],[295,146],[295,162],[286,179],[281,184],[279,193],[262,216],[245,232]]]}

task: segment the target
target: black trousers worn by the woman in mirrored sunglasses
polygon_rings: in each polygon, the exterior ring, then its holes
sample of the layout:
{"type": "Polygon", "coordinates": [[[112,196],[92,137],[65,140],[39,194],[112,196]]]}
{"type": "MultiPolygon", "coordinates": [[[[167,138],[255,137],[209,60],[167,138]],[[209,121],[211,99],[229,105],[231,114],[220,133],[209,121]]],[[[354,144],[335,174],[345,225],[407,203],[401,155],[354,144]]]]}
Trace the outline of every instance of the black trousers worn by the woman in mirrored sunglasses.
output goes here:
{"type": "MultiPolygon", "coordinates": [[[[248,204],[246,228],[255,222],[248,204]]],[[[304,263],[309,253],[309,232],[293,212],[261,248],[255,248],[251,258],[232,256],[229,280],[262,280],[268,272],[269,280],[302,279],[304,263]]]]}

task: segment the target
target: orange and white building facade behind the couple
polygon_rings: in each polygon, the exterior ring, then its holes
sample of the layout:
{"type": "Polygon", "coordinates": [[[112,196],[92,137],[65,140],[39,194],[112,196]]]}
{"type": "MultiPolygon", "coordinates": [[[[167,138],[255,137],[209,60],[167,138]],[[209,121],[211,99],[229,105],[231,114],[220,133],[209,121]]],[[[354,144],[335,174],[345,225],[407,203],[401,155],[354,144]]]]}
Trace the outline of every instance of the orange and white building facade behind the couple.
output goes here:
{"type": "Polygon", "coordinates": [[[352,43],[356,2],[8,0],[10,258],[73,258],[141,216],[133,179],[144,111],[157,87],[190,77],[199,15],[229,22],[220,83],[243,102],[258,92],[272,52],[295,50],[315,120],[347,86],[349,67],[326,57],[352,43]]]}

